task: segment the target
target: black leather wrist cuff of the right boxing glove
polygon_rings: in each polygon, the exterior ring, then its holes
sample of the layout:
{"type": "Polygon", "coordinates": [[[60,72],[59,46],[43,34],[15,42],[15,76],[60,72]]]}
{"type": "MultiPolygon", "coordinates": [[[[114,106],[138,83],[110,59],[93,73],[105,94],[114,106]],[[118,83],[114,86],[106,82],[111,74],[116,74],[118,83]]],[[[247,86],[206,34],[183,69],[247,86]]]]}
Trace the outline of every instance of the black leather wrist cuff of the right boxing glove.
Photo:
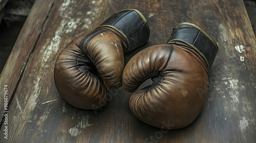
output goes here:
{"type": "Polygon", "coordinates": [[[196,50],[211,67],[219,50],[216,42],[198,26],[183,22],[174,28],[167,43],[170,41],[182,41],[196,50]]]}

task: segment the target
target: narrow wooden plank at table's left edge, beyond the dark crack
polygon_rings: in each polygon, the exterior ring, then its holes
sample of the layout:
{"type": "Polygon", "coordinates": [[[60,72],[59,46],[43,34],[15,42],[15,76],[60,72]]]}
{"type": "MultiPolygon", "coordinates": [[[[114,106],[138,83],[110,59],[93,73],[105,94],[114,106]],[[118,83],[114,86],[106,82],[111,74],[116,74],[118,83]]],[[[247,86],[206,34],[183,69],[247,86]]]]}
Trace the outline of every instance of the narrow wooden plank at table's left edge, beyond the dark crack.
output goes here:
{"type": "MultiPolygon", "coordinates": [[[[26,67],[27,61],[34,49],[35,43],[41,33],[52,4],[53,1],[49,1],[47,3],[43,1],[36,1],[34,3],[34,6],[31,9],[33,12],[28,15],[27,20],[24,23],[25,27],[20,31],[12,52],[5,67],[3,68],[0,75],[0,91],[3,93],[4,85],[8,85],[8,102],[10,101],[13,91],[16,88],[16,84],[26,67]],[[35,17],[41,18],[34,20],[35,17]]],[[[4,113],[3,104],[4,98],[0,98],[1,117],[3,117],[4,113]]]]}

